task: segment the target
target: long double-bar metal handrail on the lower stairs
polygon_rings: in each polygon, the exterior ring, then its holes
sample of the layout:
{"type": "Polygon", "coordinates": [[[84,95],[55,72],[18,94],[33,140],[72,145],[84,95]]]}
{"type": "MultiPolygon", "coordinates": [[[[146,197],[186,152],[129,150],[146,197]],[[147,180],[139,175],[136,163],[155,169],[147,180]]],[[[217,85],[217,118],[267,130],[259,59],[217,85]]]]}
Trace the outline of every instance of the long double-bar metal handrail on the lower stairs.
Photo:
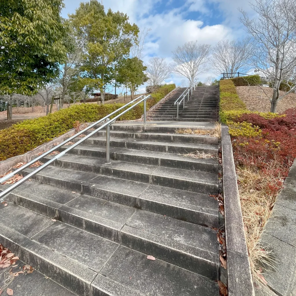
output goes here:
{"type": "MultiPolygon", "coordinates": [[[[83,137],[80,141],[76,142],[75,144],[71,145],[69,148],[67,148],[66,150],[60,152],[59,154],[57,154],[56,156],[54,156],[51,160],[47,161],[46,163],[44,163],[43,165],[39,166],[38,168],[36,168],[33,172],[29,173],[27,176],[23,177],[22,179],[20,179],[19,181],[17,181],[15,184],[12,184],[11,186],[9,186],[7,189],[3,190],[0,193],[0,202],[3,202],[4,197],[9,194],[13,189],[15,189],[16,187],[20,186],[22,183],[24,183],[25,181],[27,181],[28,179],[30,179],[32,176],[36,175],[38,172],[40,172],[41,170],[43,170],[44,168],[46,168],[47,166],[49,166],[51,163],[53,163],[55,160],[59,159],[60,157],[62,157],[63,155],[65,155],[68,151],[72,150],[73,148],[75,148],[76,146],[78,146],[79,144],[81,144],[83,141],[85,141],[86,139],[88,139],[89,137],[93,136],[95,133],[97,133],[98,131],[100,131],[102,128],[104,128],[105,126],[107,126],[106,128],[106,159],[107,159],[107,163],[110,163],[110,124],[113,123],[115,120],[117,120],[120,116],[122,116],[123,114],[125,114],[126,112],[128,112],[129,110],[133,109],[135,106],[139,105],[141,102],[144,101],[144,125],[146,125],[146,100],[151,96],[139,96],[138,98],[134,99],[133,101],[129,102],[128,104],[124,105],[123,107],[118,108],[116,111],[110,113],[109,115],[105,116],[104,118],[96,121],[95,123],[91,124],[90,126],[88,126],[87,128],[85,128],[83,131],[87,131],[90,128],[92,128],[93,126],[95,126],[98,123],[101,123],[103,120],[106,119],[106,123],[102,124],[102,126],[100,126],[99,128],[97,128],[96,130],[92,131],[91,133],[89,133],[88,135],[86,135],[85,137],[83,137]],[[136,100],[138,100],[139,98],[144,97],[143,99],[141,99],[139,102],[137,102],[136,104],[132,105],[131,107],[129,107],[128,109],[124,110],[123,112],[121,112],[120,114],[118,114],[117,116],[115,116],[114,118],[110,119],[109,116],[114,115],[115,113],[117,113],[118,111],[122,110],[124,107],[128,106],[129,104],[135,102],[136,100]]],[[[152,97],[152,96],[151,96],[152,97]]],[[[54,151],[57,148],[63,146],[64,144],[66,144],[67,142],[71,141],[71,139],[75,139],[77,136],[79,136],[83,131],[75,134],[74,136],[72,136],[71,138],[65,140],[64,142],[60,143],[59,145],[55,146],[54,148],[50,149],[49,151],[44,152],[43,154],[39,155],[38,157],[36,157],[34,160],[31,160],[29,163],[33,164],[36,161],[38,161],[39,159],[43,158],[44,156],[48,155],[50,153],[50,151],[54,151]]],[[[29,163],[22,165],[19,169],[15,170],[14,172],[8,174],[7,176],[10,176],[10,178],[12,176],[14,176],[15,174],[19,173],[20,171],[22,171],[23,169],[27,168],[29,165],[29,163]],[[21,170],[20,170],[21,169],[21,170]]],[[[3,182],[5,182],[6,180],[8,180],[7,176],[3,177],[0,179],[0,184],[2,184],[3,182]],[[2,181],[3,180],[3,181],[2,181]]]]}

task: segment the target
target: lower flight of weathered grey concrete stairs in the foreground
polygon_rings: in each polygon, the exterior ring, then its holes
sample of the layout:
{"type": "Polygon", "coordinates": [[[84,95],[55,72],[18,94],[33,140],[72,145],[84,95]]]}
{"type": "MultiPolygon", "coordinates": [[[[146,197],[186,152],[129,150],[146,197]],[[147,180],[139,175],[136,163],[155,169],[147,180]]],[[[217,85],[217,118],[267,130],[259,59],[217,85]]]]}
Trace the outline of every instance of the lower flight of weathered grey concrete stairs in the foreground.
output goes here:
{"type": "Polygon", "coordinates": [[[0,242],[76,295],[219,295],[218,160],[183,156],[218,139],[178,127],[113,124],[109,164],[105,131],[87,139],[0,205],[0,242]]]}

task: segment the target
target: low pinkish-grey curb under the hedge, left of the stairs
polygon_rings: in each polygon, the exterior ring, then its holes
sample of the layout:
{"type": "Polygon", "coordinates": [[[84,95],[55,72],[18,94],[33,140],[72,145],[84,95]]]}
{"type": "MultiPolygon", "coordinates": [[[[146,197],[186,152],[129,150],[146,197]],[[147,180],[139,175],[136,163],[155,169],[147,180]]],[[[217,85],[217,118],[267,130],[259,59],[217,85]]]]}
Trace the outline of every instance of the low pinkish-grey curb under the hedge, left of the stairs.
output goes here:
{"type": "MultiPolygon", "coordinates": [[[[81,125],[81,128],[86,128],[90,123],[84,123],[81,125]]],[[[53,138],[51,141],[41,144],[40,146],[34,148],[31,151],[28,151],[24,154],[10,157],[6,160],[0,161],[0,175],[6,173],[10,168],[12,168],[17,163],[27,163],[34,159],[38,153],[47,151],[54,147],[54,144],[61,143],[67,137],[73,136],[75,134],[75,128],[70,129],[67,133],[62,134],[61,136],[53,138]]]]}

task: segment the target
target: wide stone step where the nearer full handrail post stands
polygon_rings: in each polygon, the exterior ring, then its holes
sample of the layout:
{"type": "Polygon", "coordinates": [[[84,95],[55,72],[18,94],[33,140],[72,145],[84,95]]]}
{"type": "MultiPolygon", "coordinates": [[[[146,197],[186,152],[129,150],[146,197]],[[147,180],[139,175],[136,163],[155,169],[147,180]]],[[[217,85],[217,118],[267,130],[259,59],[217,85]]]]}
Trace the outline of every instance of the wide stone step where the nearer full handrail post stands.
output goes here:
{"type": "MultiPolygon", "coordinates": [[[[44,157],[43,160],[49,160],[52,157],[54,156],[44,157]]],[[[215,173],[129,163],[120,160],[112,160],[110,164],[106,164],[104,158],[77,155],[64,155],[56,160],[54,165],[191,192],[218,194],[218,175],[215,173]]]]}

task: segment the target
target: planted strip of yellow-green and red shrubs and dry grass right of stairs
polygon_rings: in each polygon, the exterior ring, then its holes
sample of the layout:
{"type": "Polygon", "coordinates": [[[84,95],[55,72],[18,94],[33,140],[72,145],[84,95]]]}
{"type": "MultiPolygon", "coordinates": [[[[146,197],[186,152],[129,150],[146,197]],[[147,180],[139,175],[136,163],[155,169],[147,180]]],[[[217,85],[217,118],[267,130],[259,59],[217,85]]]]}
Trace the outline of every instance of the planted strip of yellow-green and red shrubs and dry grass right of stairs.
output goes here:
{"type": "Polygon", "coordinates": [[[260,238],[296,157],[296,109],[251,112],[230,79],[220,81],[220,95],[219,115],[231,135],[252,274],[264,282],[260,262],[272,261],[260,238]]]}

